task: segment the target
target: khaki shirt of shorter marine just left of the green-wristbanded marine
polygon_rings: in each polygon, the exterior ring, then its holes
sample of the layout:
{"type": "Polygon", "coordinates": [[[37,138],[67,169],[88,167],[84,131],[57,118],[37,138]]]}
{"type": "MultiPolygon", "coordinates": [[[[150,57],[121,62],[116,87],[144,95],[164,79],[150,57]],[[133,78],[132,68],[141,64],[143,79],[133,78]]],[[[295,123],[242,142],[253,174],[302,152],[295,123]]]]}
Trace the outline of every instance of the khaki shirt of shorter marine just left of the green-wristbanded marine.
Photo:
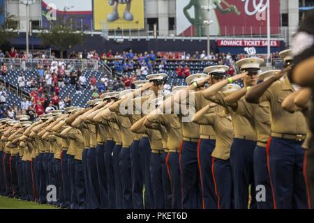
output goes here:
{"type": "Polygon", "coordinates": [[[216,146],[212,157],[227,160],[230,158],[230,147],[233,140],[232,119],[225,112],[206,114],[202,121],[204,125],[211,125],[216,132],[216,146]]]}

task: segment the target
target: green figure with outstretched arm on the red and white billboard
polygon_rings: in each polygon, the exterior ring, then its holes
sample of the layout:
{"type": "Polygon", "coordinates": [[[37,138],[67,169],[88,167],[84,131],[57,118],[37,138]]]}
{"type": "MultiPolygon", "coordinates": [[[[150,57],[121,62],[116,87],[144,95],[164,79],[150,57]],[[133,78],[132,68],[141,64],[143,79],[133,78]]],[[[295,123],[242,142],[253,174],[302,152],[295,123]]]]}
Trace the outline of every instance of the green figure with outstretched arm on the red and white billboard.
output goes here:
{"type": "Polygon", "coordinates": [[[220,13],[236,13],[237,15],[241,15],[237,6],[227,3],[225,0],[212,0],[211,1],[213,8],[209,6],[209,0],[190,0],[188,5],[184,7],[184,15],[195,27],[195,36],[207,36],[208,29],[211,36],[217,36],[220,34],[220,26],[219,21],[215,12],[215,8],[219,10],[220,13]],[[225,5],[226,8],[223,8],[225,5]],[[194,8],[194,17],[190,16],[188,10],[190,8],[194,8]],[[213,23],[210,26],[204,25],[204,20],[210,21],[213,23]]]}

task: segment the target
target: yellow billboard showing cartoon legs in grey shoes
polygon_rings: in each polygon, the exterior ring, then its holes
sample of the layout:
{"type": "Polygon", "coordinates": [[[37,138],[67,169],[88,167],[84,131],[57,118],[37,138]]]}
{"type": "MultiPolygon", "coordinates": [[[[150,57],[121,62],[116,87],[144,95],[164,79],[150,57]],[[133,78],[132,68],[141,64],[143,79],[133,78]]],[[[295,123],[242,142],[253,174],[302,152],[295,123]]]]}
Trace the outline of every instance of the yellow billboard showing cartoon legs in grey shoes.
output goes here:
{"type": "Polygon", "coordinates": [[[94,29],[144,29],[144,0],[94,0],[94,29]]]}

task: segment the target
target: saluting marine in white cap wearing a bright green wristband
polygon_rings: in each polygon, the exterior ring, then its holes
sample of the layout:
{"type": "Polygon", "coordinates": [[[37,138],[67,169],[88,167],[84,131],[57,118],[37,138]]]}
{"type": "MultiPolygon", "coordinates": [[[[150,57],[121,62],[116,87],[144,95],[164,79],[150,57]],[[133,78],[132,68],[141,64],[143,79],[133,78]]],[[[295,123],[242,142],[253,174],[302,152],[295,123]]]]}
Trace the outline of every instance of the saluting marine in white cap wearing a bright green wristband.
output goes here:
{"type": "Polygon", "coordinates": [[[232,116],[234,140],[230,149],[230,164],[234,183],[234,208],[236,209],[248,208],[249,185],[251,185],[250,208],[256,208],[253,154],[256,147],[257,136],[253,128],[253,120],[248,120],[245,116],[234,112],[232,107],[224,100],[230,92],[223,93],[221,90],[223,87],[226,87],[227,84],[232,84],[244,77],[246,77],[247,86],[256,84],[258,70],[263,62],[264,61],[259,58],[237,61],[237,66],[239,66],[244,73],[234,75],[233,77],[218,82],[203,92],[205,98],[227,108],[232,116]]]}

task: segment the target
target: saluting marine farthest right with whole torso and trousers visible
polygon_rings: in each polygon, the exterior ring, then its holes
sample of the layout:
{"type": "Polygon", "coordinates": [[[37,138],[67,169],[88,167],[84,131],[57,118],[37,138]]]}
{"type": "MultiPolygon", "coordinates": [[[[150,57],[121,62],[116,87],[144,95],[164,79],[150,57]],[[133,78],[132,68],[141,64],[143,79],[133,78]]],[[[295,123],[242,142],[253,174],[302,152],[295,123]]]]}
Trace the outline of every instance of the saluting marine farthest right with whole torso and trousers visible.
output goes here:
{"type": "MultiPolygon", "coordinates": [[[[289,52],[283,57],[287,62],[291,60],[289,52]]],[[[301,112],[290,114],[281,107],[287,95],[298,88],[283,75],[285,72],[279,72],[254,86],[246,95],[246,101],[270,103],[271,138],[267,144],[267,165],[274,208],[307,208],[301,146],[308,130],[301,112]]]]}

